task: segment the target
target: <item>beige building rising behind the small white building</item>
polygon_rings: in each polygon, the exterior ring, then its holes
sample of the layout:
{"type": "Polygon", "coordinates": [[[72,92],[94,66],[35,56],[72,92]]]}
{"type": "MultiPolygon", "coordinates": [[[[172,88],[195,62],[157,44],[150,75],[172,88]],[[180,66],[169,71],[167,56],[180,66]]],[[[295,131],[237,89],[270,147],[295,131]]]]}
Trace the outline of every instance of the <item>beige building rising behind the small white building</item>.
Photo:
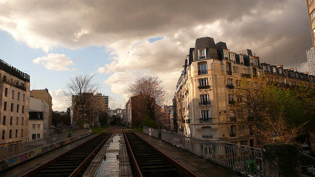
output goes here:
{"type": "MultiPolygon", "coordinates": [[[[48,108],[48,110],[49,110],[48,128],[51,129],[51,119],[52,119],[51,115],[52,115],[52,112],[53,112],[53,109],[52,109],[53,103],[52,103],[52,97],[49,94],[48,89],[47,88],[46,89],[33,89],[31,91],[31,95],[34,98],[45,100],[46,103],[48,104],[48,107],[49,107],[48,108]]],[[[50,135],[50,133],[49,133],[49,135],[50,135]]]]}

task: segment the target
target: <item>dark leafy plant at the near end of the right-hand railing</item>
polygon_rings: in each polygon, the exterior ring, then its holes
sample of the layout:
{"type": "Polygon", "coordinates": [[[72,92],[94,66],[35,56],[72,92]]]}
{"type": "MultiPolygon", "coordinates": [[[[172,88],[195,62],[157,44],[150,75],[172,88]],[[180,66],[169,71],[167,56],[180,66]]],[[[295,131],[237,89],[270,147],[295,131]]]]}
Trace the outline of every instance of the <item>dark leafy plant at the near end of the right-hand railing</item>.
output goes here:
{"type": "Polygon", "coordinates": [[[297,177],[296,164],[298,164],[299,146],[295,143],[272,143],[264,145],[266,158],[278,165],[283,177],[297,177]]]}

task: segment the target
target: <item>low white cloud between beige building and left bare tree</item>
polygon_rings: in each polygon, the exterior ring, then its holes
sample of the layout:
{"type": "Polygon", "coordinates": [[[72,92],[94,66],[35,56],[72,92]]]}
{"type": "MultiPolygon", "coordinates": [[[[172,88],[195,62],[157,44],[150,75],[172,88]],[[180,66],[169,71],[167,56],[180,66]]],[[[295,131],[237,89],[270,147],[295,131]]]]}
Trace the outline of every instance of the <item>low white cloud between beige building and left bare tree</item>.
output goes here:
{"type": "Polygon", "coordinates": [[[67,107],[69,107],[69,103],[66,101],[66,97],[63,95],[63,90],[49,90],[49,93],[52,97],[53,106],[52,109],[54,111],[66,111],[67,107]]]}

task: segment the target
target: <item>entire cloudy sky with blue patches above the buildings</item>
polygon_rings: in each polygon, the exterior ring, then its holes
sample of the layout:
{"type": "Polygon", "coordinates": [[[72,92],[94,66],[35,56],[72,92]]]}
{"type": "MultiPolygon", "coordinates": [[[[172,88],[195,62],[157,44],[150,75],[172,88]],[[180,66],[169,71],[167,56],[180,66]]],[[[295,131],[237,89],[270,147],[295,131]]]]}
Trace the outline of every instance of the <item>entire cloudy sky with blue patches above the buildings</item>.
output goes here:
{"type": "Polygon", "coordinates": [[[209,36],[261,62],[308,71],[312,47],[305,0],[0,0],[0,59],[47,88],[53,110],[69,105],[65,84],[94,74],[112,109],[124,108],[128,86],[156,75],[170,105],[184,59],[209,36]]]}

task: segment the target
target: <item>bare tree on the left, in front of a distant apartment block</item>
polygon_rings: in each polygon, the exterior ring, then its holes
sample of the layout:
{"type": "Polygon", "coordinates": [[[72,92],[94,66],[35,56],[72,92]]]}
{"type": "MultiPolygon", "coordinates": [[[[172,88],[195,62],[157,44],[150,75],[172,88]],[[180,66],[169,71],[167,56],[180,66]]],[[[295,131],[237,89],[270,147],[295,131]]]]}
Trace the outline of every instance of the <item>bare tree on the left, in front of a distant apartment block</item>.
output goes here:
{"type": "Polygon", "coordinates": [[[73,110],[77,111],[78,117],[89,124],[93,118],[91,113],[94,113],[91,112],[95,104],[94,94],[99,88],[100,85],[94,81],[94,75],[85,74],[70,78],[63,92],[64,96],[72,101],[73,110]]]}

